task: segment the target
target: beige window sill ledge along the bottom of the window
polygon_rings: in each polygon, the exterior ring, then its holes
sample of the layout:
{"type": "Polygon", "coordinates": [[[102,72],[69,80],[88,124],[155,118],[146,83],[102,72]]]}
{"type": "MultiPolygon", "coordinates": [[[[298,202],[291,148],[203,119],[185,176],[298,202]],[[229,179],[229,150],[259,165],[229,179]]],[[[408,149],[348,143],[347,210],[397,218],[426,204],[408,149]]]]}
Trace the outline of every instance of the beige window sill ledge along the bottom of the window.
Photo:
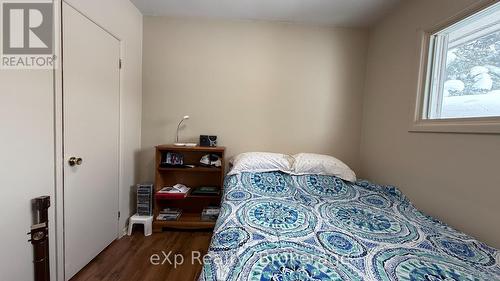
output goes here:
{"type": "Polygon", "coordinates": [[[427,119],[412,121],[409,132],[500,134],[500,117],[427,119]]]}

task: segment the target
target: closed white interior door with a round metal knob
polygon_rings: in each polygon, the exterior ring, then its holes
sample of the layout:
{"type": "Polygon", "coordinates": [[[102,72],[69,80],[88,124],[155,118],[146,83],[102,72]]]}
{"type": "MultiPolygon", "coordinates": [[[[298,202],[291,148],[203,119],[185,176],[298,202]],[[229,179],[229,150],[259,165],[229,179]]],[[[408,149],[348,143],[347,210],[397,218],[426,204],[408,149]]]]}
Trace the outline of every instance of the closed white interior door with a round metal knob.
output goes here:
{"type": "Polygon", "coordinates": [[[66,3],[62,35],[68,280],[118,235],[120,43],[66,3]]]}

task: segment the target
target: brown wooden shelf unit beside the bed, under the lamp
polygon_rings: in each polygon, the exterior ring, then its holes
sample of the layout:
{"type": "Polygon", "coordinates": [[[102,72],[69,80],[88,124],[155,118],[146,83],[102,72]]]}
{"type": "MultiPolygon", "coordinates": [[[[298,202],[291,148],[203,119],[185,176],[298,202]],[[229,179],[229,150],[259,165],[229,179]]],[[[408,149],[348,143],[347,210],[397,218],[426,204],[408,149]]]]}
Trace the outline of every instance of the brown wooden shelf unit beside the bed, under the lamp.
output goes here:
{"type": "MultiPolygon", "coordinates": [[[[155,155],[155,193],[165,186],[177,183],[191,189],[199,186],[215,186],[222,189],[224,184],[224,147],[183,147],[174,145],[156,146],[155,155]],[[161,167],[162,154],[166,152],[180,153],[184,156],[185,165],[195,165],[194,168],[161,167]],[[207,154],[217,154],[222,161],[221,168],[200,166],[200,159],[207,154]]],[[[154,204],[153,231],[160,232],[163,228],[175,229],[209,229],[215,222],[202,221],[201,212],[208,206],[220,206],[221,195],[188,195],[183,199],[156,199],[154,204]],[[160,221],[156,217],[164,208],[182,209],[180,218],[176,221],[160,221]]]]}

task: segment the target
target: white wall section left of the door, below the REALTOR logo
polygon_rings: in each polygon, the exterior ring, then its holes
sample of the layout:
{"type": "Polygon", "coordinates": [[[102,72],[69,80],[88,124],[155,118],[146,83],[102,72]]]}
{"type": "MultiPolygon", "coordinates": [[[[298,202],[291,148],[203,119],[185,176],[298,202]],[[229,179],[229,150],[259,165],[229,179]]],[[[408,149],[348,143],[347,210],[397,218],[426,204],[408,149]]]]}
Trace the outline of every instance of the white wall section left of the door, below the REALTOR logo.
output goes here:
{"type": "MultiPolygon", "coordinates": [[[[0,70],[0,280],[33,279],[30,200],[54,203],[53,121],[52,71],[0,70]]],[[[54,207],[49,220],[54,261],[54,207]]]]}

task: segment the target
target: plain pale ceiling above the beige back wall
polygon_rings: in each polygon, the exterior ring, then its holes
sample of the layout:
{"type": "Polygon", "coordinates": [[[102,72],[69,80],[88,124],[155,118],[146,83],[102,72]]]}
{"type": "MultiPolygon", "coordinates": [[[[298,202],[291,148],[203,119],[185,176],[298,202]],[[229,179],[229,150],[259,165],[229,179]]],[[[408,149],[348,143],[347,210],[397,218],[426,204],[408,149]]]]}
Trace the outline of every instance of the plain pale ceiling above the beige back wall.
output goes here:
{"type": "Polygon", "coordinates": [[[131,0],[146,16],[369,26],[400,0],[131,0]]]}

